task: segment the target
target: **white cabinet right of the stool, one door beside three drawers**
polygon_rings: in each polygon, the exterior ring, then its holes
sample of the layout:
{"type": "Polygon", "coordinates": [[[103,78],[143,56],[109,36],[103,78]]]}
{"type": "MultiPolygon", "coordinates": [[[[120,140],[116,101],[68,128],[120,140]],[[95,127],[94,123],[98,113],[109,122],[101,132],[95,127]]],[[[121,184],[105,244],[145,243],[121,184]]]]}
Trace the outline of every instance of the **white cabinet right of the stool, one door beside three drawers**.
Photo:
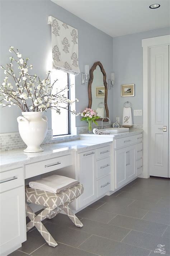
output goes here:
{"type": "Polygon", "coordinates": [[[92,151],[79,153],[78,179],[84,186],[84,193],[78,198],[78,209],[86,207],[110,190],[110,145],[92,151]]]}

